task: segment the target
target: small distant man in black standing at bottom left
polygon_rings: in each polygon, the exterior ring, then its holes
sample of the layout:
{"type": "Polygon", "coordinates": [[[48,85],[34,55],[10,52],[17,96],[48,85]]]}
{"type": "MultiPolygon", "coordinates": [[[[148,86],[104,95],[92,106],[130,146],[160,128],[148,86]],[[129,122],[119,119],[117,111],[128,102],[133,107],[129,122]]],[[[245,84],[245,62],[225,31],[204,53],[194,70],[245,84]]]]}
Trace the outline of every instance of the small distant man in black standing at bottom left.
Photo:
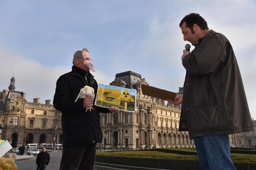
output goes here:
{"type": "Polygon", "coordinates": [[[36,157],[36,170],[45,170],[46,166],[49,164],[50,154],[46,152],[46,148],[42,147],[42,152],[40,152],[36,157]]]}

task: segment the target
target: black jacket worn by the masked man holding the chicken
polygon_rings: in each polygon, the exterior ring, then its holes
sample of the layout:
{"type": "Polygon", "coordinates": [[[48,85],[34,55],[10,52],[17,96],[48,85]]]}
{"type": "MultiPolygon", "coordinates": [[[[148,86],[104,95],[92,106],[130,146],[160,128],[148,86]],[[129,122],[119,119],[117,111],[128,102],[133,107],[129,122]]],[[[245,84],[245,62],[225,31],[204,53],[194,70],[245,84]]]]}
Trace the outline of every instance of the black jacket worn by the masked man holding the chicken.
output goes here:
{"type": "Polygon", "coordinates": [[[88,85],[87,83],[94,88],[96,97],[98,84],[94,76],[76,66],[72,67],[71,72],[61,75],[57,81],[53,105],[62,113],[63,147],[102,142],[99,113],[107,113],[109,110],[93,104],[94,110],[85,112],[84,99],[78,99],[75,102],[80,89],[88,85]]]}

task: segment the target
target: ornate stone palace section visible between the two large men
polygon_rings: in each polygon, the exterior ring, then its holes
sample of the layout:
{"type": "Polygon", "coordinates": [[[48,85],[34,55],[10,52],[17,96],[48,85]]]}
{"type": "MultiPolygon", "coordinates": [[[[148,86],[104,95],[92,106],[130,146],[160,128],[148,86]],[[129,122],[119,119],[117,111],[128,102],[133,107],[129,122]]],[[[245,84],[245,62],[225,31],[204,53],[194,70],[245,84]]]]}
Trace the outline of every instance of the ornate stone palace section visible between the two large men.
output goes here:
{"type": "Polygon", "coordinates": [[[118,73],[113,86],[137,90],[135,113],[101,114],[103,147],[194,147],[188,132],[178,132],[180,105],[142,94],[141,85],[148,83],[132,71],[118,73]]]}

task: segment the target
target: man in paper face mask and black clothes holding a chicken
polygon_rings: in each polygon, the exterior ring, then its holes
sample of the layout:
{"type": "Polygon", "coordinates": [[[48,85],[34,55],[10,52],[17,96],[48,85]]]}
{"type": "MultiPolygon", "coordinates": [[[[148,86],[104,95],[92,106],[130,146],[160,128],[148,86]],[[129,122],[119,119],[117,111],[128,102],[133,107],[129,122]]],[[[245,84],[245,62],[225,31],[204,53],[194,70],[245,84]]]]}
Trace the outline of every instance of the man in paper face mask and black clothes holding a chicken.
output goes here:
{"type": "Polygon", "coordinates": [[[73,57],[72,71],[59,77],[53,99],[54,108],[62,113],[63,152],[60,170],[93,170],[95,164],[96,143],[102,142],[100,113],[119,112],[119,108],[110,109],[96,105],[98,84],[89,72],[95,71],[87,48],[77,51],[73,57]],[[84,86],[94,88],[95,96],[78,99],[84,86]],[[86,111],[86,108],[92,110],[86,111]]]}

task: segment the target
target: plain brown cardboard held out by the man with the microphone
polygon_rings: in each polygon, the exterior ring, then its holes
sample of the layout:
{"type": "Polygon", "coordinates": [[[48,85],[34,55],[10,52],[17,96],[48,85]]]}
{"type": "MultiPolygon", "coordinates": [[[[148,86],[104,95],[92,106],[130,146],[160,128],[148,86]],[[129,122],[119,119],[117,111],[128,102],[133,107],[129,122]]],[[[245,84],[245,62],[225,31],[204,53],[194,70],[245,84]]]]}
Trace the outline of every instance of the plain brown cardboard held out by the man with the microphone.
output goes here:
{"type": "Polygon", "coordinates": [[[174,92],[163,90],[163,89],[152,87],[152,86],[148,86],[148,85],[145,85],[145,84],[142,84],[141,88],[142,88],[142,94],[143,95],[155,97],[155,98],[158,98],[158,99],[163,99],[163,100],[172,99],[172,100],[174,100],[174,98],[176,97],[176,93],[174,93],[174,92]]]}

